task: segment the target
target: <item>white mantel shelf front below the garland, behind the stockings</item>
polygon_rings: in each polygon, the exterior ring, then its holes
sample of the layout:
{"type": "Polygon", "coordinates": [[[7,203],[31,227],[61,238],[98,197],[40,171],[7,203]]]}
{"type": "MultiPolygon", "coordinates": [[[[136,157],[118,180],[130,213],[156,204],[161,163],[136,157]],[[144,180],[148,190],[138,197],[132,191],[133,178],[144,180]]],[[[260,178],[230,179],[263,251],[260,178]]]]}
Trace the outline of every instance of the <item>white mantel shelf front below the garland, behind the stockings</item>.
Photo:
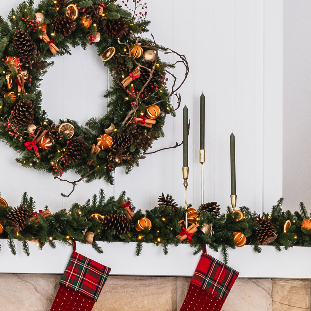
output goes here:
{"type": "MultiPolygon", "coordinates": [[[[104,253],[99,254],[90,245],[77,243],[77,252],[111,267],[111,275],[192,276],[200,255],[193,256],[194,248],[187,244],[170,246],[169,254],[154,244],[144,244],[142,254],[135,255],[135,243],[98,242],[104,253]]],[[[45,245],[42,250],[30,242],[30,256],[26,256],[20,243],[15,243],[17,255],[10,252],[7,241],[1,240],[0,273],[62,274],[72,248],[56,242],[56,249],[45,245]],[[4,264],[5,263],[5,264],[4,264]]],[[[207,252],[222,260],[221,254],[207,252]]],[[[294,247],[276,251],[272,246],[262,246],[255,253],[250,245],[229,249],[229,266],[239,271],[239,277],[254,278],[311,278],[309,261],[311,248],[294,247]]]]}

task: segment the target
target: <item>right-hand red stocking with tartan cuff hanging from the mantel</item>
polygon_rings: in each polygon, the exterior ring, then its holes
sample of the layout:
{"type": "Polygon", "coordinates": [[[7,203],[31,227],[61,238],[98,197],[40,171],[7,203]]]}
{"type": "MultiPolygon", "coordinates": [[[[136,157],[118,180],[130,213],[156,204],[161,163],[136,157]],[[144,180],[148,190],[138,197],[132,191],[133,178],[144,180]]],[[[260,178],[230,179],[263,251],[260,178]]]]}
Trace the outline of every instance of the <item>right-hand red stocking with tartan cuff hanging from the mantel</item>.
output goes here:
{"type": "Polygon", "coordinates": [[[239,272],[208,255],[204,245],[179,311],[220,311],[238,275],[239,272]]]}

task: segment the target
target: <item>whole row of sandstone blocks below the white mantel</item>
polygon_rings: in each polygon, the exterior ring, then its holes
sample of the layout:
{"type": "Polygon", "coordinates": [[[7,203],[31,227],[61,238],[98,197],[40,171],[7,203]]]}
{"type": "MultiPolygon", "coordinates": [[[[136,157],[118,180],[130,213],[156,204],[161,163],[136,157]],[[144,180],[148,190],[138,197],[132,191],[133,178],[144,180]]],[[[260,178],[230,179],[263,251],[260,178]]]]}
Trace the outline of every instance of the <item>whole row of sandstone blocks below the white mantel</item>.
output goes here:
{"type": "MultiPolygon", "coordinates": [[[[0,274],[1,309],[49,311],[60,275],[0,274]]],[[[176,311],[191,278],[109,276],[93,311],[176,311]]],[[[222,311],[310,311],[310,280],[238,278],[222,311]]]]}

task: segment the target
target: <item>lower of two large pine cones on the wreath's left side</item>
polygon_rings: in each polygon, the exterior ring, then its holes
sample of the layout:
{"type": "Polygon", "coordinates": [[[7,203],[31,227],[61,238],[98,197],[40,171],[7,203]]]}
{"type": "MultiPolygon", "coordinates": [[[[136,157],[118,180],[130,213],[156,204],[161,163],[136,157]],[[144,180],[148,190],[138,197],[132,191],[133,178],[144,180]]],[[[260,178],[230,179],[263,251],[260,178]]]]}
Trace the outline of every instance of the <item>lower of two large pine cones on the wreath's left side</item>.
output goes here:
{"type": "Polygon", "coordinates": [[[31,100],[24,98],[12,109],[11,120],[17,127],[26,126],[32,123],[35,116],[35,106],[31,100]]]}

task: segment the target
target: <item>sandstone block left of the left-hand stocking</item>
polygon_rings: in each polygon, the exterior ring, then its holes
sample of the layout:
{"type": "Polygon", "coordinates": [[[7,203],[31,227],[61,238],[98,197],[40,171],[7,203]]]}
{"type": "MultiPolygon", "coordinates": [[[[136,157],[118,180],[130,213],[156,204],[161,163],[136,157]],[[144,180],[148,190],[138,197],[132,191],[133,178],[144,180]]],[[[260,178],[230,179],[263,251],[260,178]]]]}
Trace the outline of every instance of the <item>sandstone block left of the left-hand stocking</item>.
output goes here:
{"type": "Polygon", "coordinates": [[[0,274],[1,309],[6,311],[49,311],[60,275],[0,274]]]}

